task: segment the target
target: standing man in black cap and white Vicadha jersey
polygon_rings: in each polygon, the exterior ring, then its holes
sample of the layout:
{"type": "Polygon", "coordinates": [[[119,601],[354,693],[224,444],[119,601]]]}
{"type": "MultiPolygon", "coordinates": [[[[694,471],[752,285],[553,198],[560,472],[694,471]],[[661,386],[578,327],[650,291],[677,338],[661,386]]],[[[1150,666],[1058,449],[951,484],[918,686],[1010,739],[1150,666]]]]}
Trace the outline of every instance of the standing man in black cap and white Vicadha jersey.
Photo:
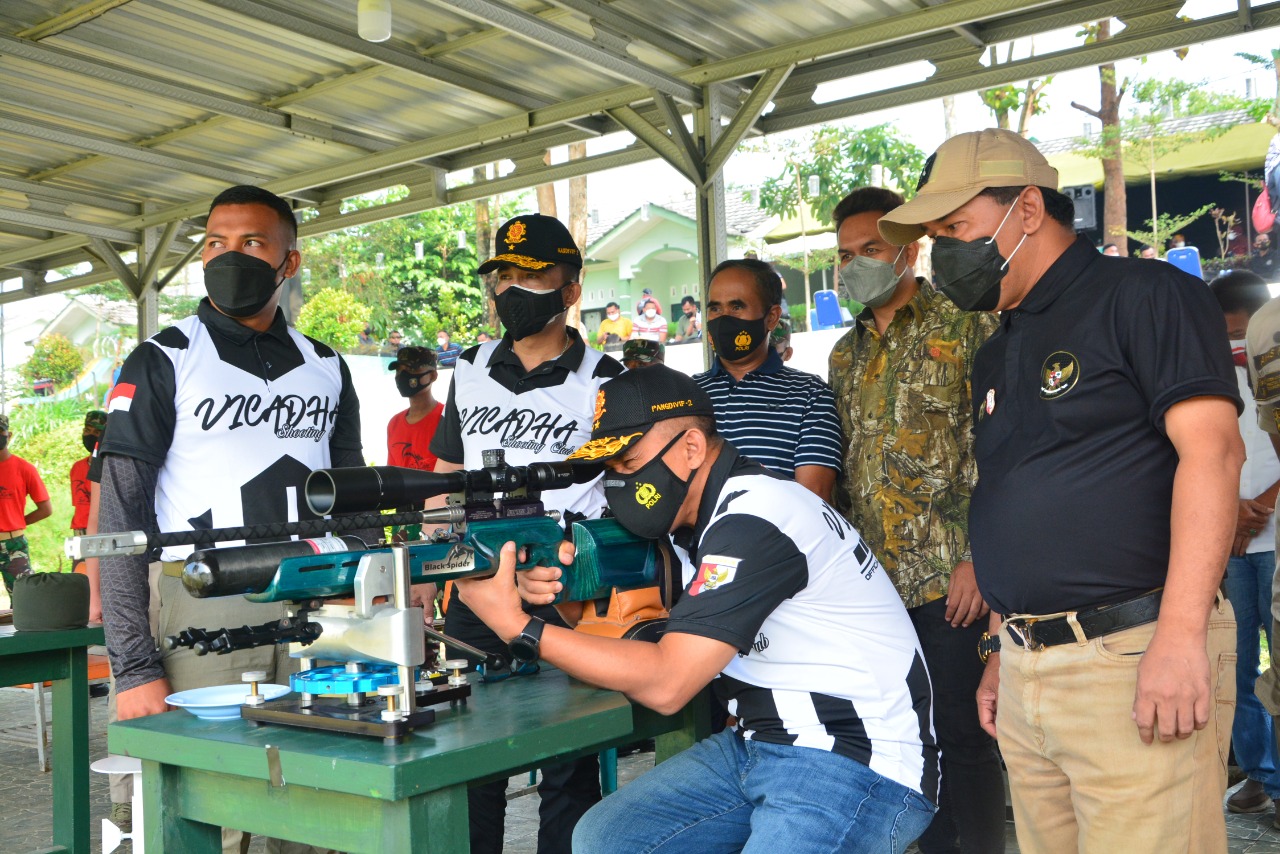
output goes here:
{"type": "MultiPolygon", "coordinates": [[[[453,367],[444,416],[431,439],[435,471],[479,469],[484,451],[502,448],[508,465],[563,460],[591,434],[600,385],[622,373],[612,356],[591,350],[566,325],[582,293],[582,256],[568,229],[553,216],[527,214],[498,229],[498,255],[480,265],[497,271],[500,341],[465,351],[453,367]]],[[[440,499],[443,502],[443,498],[440,499]]],[[[599,516],[599,479],[543,493],[548,510],[599,516]]],[[[540,613],[554,620],[554,608],[540,613]]],[[[506,653],[471,609],[452,595],[444,630],[481,649],[506,653]]],[[[541,768],[539,854],[568,854],[573,826],[600,799],[595,757],[541,768]]],[[[467,793],[472,854],[502,850],[506,781],[467,793]]]]}

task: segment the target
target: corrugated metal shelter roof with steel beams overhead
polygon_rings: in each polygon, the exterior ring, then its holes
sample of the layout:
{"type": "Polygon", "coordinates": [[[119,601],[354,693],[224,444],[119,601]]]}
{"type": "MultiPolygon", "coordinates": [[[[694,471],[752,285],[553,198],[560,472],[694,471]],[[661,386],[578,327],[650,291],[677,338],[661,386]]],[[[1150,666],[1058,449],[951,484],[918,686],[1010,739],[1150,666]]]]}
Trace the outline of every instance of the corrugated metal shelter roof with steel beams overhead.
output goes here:
{"type": "MultiPolygon", "coordinates": [[[[700,159],[717,169],[748,133],[1280,24],[1280,1],[1185,22],[1176,0],[397,0],[392,38],[371,44],[356,5],[0,3],[0,279],[26,274],[38,294],[114,278],[104,255],[180,222],[173,262],[230,183],[317,206],[308,233],[657,156],[701,184],[700,159]],[[988,45],[1102,14],[1143,24],[1007,69],[979,61],[988,45]],[[813,101],[819,83],[919,59],[938,67],[925,82],[813,101]],[[699,105],[728,134],[722,150],[672,132],[699,105]],[[541,161],[548,146],[623,129],[630,149],[541,161]],[[492,181],[470,183],[495,161],[492,181]],[[428,189],[449,173],[443,193],[428,189]],[[398,184],[419,189],[340,210],[398,184]],[[91,273],[46,282],[83,261],[91,273]]],[[[673,204],[691,215],[691,198],[673,204]]],[[[744,230],[740,200],[724,204],[744,230]]]]}

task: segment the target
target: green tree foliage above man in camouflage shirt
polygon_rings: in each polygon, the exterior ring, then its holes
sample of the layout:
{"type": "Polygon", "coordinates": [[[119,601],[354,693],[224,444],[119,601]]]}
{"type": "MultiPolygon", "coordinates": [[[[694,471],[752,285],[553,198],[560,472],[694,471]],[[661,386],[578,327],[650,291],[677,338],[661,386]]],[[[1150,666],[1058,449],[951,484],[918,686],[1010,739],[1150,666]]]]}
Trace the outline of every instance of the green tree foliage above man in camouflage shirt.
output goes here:
{"type": "Polygon", "coordinates": [[[803,200],[815,220],[831,223],[840,200],[855,187],[877,183],[877,174],[881,184],[910,198],[924,169],[924,152],[890,124],[860,131],[823,125],[806,142],[781,147],[786,155],[782,174],[760,186],[760,207],[776,216],[794,216],[803,200]],[[810,175],[818,177],[817,195],[809,192],[810,175]]]}

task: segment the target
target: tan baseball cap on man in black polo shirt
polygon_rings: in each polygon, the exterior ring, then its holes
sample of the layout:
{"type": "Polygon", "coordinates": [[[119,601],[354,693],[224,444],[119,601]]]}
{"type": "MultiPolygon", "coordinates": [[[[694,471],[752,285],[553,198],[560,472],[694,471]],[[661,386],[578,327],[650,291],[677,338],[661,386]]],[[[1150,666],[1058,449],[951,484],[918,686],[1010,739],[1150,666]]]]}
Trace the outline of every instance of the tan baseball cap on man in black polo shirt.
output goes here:
{"type": "Polygon", "coordinates": [[[1001,128],[957,133],[924,164],[915,197],[884,214],[879,233],[895,246],[924,237],[920,223],[942,219],[988,187],[1057,189],[1057,169],[1021,134],[1001,128]]]}

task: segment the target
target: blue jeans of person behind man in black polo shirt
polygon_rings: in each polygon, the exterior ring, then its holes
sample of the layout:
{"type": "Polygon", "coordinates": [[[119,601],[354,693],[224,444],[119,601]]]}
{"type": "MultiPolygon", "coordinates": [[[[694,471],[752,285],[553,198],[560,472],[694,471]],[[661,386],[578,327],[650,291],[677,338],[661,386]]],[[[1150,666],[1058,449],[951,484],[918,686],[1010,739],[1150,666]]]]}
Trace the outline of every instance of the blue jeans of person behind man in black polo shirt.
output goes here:
{"type": "Polygon", "coordinates": [[[1231,744],[1235,761],[1249,780],[1271,798],[1280,798],[1280,758],[1276,757],[1271,716],[1262,708],[1253,682],[1258,679],[1258,629],[1271,644],[1271,576],[1275,552],[1253,552],[1226,563],[1226,598],[1235,609],[1235,722],[1231,744]]]}

